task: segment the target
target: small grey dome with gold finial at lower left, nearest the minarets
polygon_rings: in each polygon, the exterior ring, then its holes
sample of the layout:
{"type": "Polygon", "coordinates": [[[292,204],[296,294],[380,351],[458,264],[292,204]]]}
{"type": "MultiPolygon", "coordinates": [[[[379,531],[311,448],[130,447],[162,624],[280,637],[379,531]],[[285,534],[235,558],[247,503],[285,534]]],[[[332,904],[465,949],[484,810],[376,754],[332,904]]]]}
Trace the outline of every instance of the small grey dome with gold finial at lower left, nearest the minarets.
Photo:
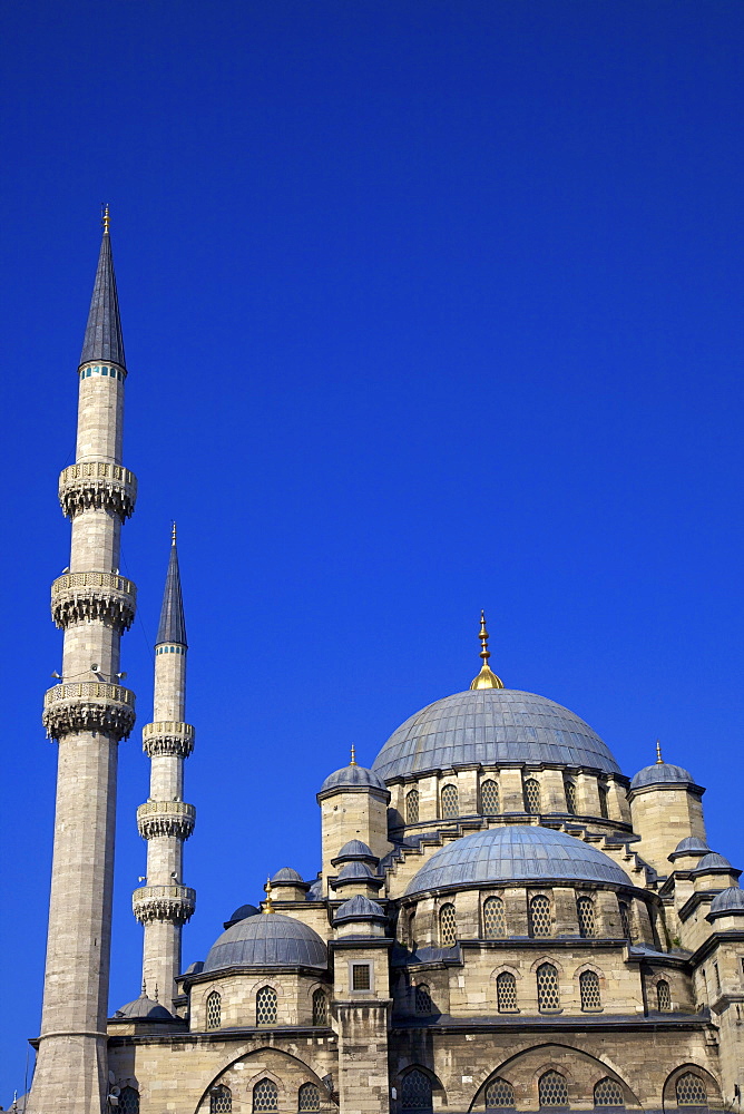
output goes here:
{"type": "Polygon", "coordinates": [[[217,937],[205,971],[225,967],[326,967],[325,944],[314,929],[278,912],[248,917],[217,937]]]}

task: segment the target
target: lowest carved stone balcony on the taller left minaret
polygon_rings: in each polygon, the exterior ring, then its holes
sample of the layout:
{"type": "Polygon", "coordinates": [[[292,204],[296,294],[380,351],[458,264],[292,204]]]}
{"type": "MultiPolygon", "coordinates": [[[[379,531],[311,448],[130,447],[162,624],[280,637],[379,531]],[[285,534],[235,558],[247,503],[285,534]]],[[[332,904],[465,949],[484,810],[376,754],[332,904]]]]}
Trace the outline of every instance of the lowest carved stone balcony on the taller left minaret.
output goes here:
{"type": "Polygon", "coordinates": [[[45,693],[42,722],[50,739],[75,731],[126,739],[135,725],[135,694],[98,681],[55,685],[45,693]]]}

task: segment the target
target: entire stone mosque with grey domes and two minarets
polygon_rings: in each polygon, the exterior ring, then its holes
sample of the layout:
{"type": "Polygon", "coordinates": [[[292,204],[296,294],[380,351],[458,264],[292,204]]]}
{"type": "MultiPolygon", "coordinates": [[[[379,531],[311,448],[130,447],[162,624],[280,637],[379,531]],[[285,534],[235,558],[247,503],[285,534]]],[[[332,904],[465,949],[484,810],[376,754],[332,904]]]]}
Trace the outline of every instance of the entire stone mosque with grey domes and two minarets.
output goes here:
{"type": "Polygon", "coordinates": [[[135,723],[126,380],[106,214],[59,482],[72,538],[51,588],[65,648],[43,705],[59,764],[29,1112],[741,1110],[744,891],[706,843],[703,788],[660,753],[626,776],[574,712],[506,688],[484,619],[469,686],[320,786],[317,876],[277,863],[183,969],[195,730],[175,535],[141,730],[144,988],[107,1016],[117,747],[135,723]]]}

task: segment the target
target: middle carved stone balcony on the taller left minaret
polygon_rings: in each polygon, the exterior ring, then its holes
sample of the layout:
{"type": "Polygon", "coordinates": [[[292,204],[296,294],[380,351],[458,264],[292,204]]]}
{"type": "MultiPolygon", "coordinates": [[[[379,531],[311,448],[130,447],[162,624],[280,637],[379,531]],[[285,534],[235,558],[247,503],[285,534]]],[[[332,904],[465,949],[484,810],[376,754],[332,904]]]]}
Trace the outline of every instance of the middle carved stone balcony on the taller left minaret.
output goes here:
{"type": "Polygon", "coordinates": [[[137,586],[116,573],[66,573],[51,586],[51,617],[58,627],[100,620],[128,631],[136,607],[137,586]]]}

